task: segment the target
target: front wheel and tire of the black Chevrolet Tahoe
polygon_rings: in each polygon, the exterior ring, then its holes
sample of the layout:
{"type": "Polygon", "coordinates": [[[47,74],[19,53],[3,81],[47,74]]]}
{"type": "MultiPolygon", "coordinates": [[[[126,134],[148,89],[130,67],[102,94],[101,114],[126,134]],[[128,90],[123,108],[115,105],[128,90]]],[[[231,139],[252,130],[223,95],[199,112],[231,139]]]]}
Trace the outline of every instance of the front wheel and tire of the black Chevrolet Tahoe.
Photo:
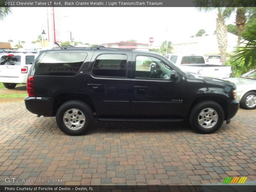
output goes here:
{"type": "Polygon", "coordinates": [[[224,111],[215,101],[202,101],[190,113],[189,123],[199,133],[210,134],[217,131],[224,121],[224,111]],[[200,122],[200,123],[199,123],[200,122]]]}

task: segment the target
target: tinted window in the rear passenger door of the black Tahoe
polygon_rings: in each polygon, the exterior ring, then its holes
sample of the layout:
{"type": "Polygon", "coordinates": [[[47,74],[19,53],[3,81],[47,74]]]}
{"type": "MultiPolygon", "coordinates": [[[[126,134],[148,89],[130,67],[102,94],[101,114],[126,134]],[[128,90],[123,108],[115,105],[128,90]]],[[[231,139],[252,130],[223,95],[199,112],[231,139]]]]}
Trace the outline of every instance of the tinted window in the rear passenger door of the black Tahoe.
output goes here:
{"type": "Polygon", "coordinates": [[[95,60],[92,74],[106,77],[126,77],[127,59],[127,55],[102,54],[95,60]]]}

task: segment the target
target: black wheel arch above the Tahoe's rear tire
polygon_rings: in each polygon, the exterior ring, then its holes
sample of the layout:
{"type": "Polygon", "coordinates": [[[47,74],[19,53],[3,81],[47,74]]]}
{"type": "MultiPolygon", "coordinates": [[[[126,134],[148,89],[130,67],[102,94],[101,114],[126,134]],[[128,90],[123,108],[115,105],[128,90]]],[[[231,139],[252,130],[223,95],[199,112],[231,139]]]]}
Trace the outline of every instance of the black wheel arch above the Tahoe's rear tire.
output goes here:
{"type": "Polygon", "coordinates": [[[65,102],[70,101],[70,100],[80,100],[92,109],[93,113],[96,113],[95,105],[93,103],[93,100],[90,96],[86,94],[81,94],[81,93],[60,93],[58,94],[54,100],[53,100],[53,108],[52,108],[52,113],[55,116],[58,108],[65,102]]]}

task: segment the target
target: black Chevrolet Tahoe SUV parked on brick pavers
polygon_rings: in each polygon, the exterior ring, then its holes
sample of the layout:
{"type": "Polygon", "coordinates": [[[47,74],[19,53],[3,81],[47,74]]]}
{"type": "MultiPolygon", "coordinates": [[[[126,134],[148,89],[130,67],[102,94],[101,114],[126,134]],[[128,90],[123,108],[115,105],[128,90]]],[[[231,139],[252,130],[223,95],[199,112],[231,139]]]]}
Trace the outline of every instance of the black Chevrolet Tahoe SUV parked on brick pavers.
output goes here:
{"type": "Polygon", "coordinates": [[[186,73],[155,52],[64,47],[46,50],[28,76],[26,108],[84,134],[104,121],[182,121],[200,133],[235,116],[236,85],[186,73]]]}

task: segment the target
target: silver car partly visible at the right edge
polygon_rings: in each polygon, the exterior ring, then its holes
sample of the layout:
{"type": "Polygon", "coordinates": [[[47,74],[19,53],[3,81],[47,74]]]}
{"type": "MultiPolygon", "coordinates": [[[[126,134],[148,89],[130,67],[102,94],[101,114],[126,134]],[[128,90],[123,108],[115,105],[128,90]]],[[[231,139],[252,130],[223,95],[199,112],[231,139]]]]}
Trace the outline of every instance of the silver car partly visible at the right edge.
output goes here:
{"type": "Polygon", "coordinates": [[[227,79],[236,84],[237,99],[244,109],[256,108],[256,69],[245,73],[240,77],[227,79]]]}

